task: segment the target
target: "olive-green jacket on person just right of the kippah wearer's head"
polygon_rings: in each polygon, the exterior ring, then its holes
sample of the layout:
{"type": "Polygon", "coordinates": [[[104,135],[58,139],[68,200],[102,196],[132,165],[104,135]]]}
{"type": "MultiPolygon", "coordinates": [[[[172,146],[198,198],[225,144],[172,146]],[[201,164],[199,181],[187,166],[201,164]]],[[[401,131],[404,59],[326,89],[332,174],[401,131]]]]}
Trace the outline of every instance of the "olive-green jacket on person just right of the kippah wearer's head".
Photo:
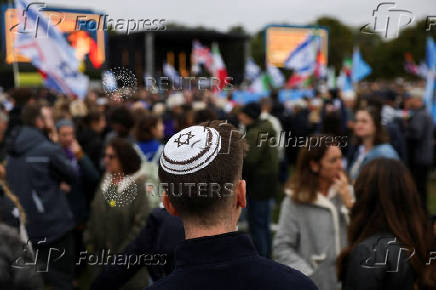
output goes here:
{"type": "Polygon", "coordinates": [[[247,127],[245,139],[249,148],[244,156],[242,176],[247,181],[247,194],[256,200],[272,198],[278,189],[276,133],[269,121],[258,119],[247,127]]]}

